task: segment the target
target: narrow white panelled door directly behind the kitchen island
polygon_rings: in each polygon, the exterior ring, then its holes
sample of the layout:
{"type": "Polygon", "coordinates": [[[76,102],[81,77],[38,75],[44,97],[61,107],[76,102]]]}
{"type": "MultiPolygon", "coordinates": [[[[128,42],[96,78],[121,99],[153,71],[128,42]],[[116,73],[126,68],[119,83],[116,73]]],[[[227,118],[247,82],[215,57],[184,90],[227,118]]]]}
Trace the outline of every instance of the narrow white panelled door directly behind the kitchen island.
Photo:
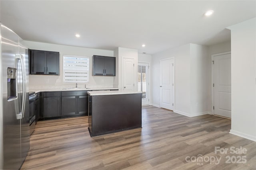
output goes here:
{"type": "Polygon", "coordinates": [[[134,90],[134,59],[123,58],[122,90],[134,90]]]}

